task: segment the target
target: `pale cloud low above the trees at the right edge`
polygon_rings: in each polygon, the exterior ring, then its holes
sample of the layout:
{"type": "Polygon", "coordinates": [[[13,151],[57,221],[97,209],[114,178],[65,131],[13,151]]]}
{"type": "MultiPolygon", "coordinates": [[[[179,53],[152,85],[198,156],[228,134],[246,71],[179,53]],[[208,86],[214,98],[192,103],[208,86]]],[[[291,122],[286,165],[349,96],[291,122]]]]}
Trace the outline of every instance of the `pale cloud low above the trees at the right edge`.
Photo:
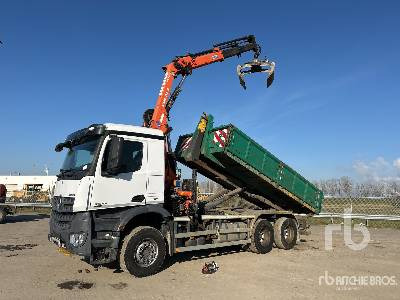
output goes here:
{"type": "Polygon", "coordinates": [[[398,171],[400,170],[400,158],[396,159],[391,165],[382,156],[372,161],[356,161],[353,170],[363,180],[392,181],[399,180],[398,171]]]}

